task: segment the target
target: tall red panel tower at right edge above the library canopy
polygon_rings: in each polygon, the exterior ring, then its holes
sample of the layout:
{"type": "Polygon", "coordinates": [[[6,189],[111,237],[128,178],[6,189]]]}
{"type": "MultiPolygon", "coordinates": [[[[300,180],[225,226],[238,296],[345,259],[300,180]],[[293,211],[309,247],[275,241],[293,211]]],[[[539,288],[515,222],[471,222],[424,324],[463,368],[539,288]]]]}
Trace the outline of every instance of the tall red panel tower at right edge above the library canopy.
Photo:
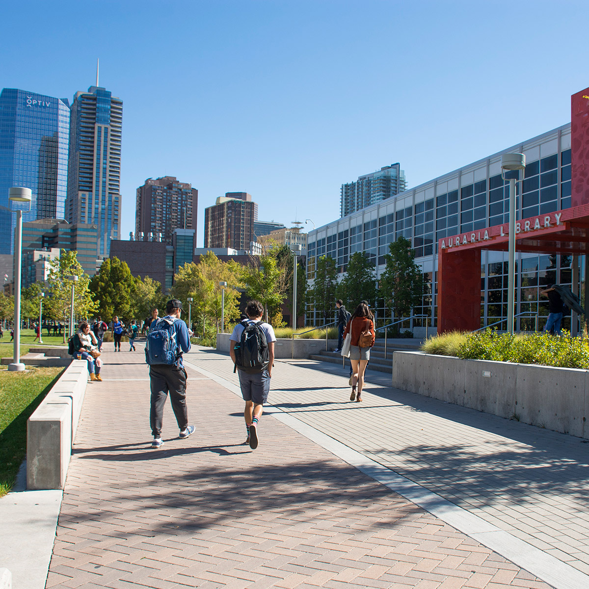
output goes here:
{"type": "Polygon", "coordinates": [[[589,203],[589,88],[571,96],[571,206],[589,203]]]}

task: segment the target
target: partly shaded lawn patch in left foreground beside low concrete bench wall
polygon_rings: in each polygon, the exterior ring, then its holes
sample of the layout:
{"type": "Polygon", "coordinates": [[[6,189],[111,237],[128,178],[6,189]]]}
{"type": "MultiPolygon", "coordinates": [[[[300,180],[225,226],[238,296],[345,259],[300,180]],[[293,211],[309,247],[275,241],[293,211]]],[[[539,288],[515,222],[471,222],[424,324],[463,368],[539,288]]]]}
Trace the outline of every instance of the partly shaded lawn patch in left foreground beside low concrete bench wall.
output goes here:
{"type": "Polygon", "coordinates": [[[63,370],[0,370],[0,497],[14,485],[19,466],[27,455],[27,419],[63,370]]]}

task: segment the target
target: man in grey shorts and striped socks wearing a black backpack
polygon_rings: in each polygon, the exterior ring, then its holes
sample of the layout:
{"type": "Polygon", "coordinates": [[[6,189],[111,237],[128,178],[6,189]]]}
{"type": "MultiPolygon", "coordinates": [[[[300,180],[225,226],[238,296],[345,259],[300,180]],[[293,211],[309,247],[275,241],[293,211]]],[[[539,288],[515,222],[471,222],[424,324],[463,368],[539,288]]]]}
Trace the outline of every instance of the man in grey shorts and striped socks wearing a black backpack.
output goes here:
{"type": "MultiPolygon", "coordinates": [[[[272,366],[274,363],[274,342],[276,342],[272,326],[269,323],[262,322],[263,313],[264,307],[262,303],[257,300],[250,300],[246,307],[246,315],[249,319],[237,323],[229,338],[229,355],[236,368],[239,369],[241,396],[246,402],[246,408],[243,412],[247,430],[245,443],[249,444],[252,450],[255,450],[259,443],[259,422],[260,418],[262,418],[264,403],[267,401],[270,391],[270,379],[272,378],[272,366]],[[253,328],[250,326],[253,326],[253,328]],[[241,336],[244,332],[246,332],[246,337],[242,340],[241,336]],[[243,352],[241,352],[240,348],[246,343],[244,341],[246,338],[248,342],[256,342],[253,346],[255,346],[256,352],[259,350],[260,355],[263,356],[263,362],[260,366],[254,368],[240,366],[240,359],[243,358],[243,352]],[[236,355],[236,347],[238,348],[238,355],[236,355]]],[[[252,346],[249,345],[248,348],[252,349],[252,346]]]]}

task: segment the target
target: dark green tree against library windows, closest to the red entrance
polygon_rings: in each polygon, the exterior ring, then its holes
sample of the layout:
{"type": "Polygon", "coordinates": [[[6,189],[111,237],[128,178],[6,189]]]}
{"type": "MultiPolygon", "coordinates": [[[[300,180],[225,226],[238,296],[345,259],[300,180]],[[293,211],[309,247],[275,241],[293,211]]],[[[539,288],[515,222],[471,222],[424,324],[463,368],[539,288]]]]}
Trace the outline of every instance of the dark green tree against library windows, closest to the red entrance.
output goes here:
{"type": "Polygon", "coordinates": [[[413,307],[421,306],[426,285],[421,267],[415,263],[415,250],[405,237],[389,244],[386,269],[380,276],[380,296],[392,308],[395,317],[409,316],[413,307]]]}

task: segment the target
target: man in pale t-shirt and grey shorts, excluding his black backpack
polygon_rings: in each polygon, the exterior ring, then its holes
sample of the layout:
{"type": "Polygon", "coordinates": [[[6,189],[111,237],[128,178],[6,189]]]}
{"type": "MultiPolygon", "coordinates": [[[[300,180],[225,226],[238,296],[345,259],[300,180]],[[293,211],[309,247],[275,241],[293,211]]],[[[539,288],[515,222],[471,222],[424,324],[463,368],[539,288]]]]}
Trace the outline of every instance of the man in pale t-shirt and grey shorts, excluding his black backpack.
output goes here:
{"type": "MultiPolygon", "coordinates": [[[[263,313],[264,307],[259,301],[250,300],[247,303],[246,315],[249,317],[247,323],[260,323],[260,330],[266,336],[269,352],[268,363],[264,365],[261,372],[246,372],[245,369],[237,366],[241,396],[243,396],[243,400],[246,402],[246,408],[243,412],[247,429],[246,444],[249,444],[252,450],[258,446],[259,421],[262,417],[263,405],[267,401],[270,391],[270,378],[272,378],[272,366],[274,363],[274,342],[276,342],[272,325],[262,322],[263,313]]],[[[240,343],[241,334],[244,329],[246,328],[243,323],[237,323],[229,338],[229,355],[233,363],[236,363],[234,346],[240,343]]]]}

